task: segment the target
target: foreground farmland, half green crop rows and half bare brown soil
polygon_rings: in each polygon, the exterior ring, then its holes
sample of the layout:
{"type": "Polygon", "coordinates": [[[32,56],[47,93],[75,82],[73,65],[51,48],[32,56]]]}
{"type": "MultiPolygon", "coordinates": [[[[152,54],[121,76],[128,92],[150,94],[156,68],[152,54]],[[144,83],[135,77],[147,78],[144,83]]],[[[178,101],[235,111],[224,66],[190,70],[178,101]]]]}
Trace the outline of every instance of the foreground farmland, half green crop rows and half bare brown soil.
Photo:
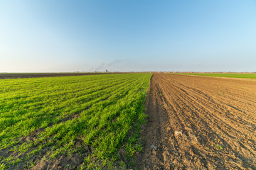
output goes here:
{"type": "Polygon", "coordinates": [[[256,79],[134,73],[0,86],[1,169],[256,169],[256,79]]]}

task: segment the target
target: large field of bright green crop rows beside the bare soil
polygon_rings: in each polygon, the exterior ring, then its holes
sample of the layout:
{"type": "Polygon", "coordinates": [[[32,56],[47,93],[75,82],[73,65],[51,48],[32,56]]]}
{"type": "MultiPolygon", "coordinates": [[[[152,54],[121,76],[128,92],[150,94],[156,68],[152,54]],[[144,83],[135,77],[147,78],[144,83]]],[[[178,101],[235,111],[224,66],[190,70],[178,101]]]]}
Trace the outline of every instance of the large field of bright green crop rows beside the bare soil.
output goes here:
{"type": "MultiPolygon", "coordinates": [[[[151,74],[0,80],[0,169],[80,155],[78,169],[132,167],[151,74]],[[121,159],[119,150],[125,151],[121,159]]],[[[74,168],[67,164],[67,169],[74,168]]]]}

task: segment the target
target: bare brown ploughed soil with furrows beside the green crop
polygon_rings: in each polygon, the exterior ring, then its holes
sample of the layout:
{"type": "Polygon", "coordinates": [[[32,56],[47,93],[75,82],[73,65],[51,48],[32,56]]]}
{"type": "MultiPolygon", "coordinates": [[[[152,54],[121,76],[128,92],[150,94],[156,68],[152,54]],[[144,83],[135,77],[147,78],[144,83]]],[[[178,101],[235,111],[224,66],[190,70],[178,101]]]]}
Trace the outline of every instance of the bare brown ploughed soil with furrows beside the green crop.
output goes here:
{"type": "Polygon", "coordinates": [[[153,74],[138,169],[256,169],[256,81],[153,74]]]}

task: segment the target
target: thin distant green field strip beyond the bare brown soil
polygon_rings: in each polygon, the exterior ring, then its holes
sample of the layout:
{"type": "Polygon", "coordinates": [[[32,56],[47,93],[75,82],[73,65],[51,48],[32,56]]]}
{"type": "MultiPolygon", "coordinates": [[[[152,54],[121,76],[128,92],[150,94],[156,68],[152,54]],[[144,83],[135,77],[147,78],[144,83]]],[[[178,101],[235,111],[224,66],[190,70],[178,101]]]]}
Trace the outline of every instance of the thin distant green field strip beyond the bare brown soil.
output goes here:
{"type": "Polygon", "coordinates": [[[252,73],[181,73],[195,76],[208,76],[208,77],[233,77],[233,78],[247,78],[256,79],[256,74],[252,73]]]}

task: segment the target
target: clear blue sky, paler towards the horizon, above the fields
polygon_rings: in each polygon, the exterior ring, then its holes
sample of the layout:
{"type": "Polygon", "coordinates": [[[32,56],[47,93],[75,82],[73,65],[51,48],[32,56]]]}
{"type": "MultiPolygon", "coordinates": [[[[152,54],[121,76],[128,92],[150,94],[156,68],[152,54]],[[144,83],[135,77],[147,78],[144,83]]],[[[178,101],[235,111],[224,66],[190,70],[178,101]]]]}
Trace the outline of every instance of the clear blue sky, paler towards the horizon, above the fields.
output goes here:
{"type": "Polygon", "coordinates": [[[256,1],[0,1],[0,72],[256,72],[256,1]]]}

